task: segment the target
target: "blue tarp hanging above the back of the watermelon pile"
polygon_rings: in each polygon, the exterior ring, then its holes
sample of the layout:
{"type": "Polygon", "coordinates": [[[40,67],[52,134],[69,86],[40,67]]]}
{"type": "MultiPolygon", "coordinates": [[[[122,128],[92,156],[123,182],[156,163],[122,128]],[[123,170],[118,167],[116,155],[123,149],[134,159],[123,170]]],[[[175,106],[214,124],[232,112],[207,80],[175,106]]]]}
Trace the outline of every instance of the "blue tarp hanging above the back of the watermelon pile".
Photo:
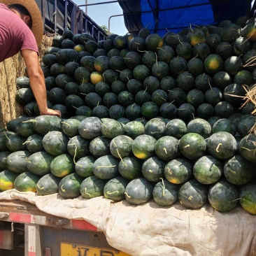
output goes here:
{"type": "Polygon", "coordinates": [[[120,0],[127,30],[138,34],[142,27],[164,35],[194,25],[236,22],[250,16],[251,0],[120,0]]]}

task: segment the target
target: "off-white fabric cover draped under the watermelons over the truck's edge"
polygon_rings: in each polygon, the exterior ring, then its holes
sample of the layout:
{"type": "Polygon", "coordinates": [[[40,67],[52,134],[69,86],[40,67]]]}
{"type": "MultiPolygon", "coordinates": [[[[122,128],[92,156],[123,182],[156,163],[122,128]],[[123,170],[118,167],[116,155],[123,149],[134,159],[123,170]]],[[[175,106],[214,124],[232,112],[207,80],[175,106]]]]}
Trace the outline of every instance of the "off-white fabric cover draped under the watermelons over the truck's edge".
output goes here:
{"type": "Polygon", "coordinates": [[[20,199],[45,213],[86,220],[104,232],[111,246],[134,256],[256,255],[256,216],[240,206],[220,213],[209,204],[187,210],[179,203],[165,208],[154,201],[133,206],[126,200],[39,197],[17,190],[1,192],[1,199],[20,199]]]}

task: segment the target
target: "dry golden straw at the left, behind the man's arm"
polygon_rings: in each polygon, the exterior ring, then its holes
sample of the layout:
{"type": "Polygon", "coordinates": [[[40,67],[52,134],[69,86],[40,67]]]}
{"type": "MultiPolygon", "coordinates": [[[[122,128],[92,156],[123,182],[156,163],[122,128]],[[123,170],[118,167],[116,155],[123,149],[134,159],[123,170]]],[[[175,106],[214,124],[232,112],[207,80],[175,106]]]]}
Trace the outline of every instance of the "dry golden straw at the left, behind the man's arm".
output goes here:
{"type": "MultiPolygon", "coordinates": [[[[45,48],[52,44],[52,35],[43,36],[39,47],[39,62],[44,55],[45,48]]],[[[23,113],[23,106],[15,100],[17,91],[16,79],[25,76],[25,64],[20,53],[0,62],[0,127],[23,113]]]]}

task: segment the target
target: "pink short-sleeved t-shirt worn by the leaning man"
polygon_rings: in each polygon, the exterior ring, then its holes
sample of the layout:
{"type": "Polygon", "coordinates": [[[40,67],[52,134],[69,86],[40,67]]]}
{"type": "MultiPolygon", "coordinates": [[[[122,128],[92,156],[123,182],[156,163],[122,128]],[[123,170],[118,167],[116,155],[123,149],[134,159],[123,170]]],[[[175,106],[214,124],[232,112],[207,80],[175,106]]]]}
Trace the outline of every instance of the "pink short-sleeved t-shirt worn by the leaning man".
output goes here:
{"type": "Polygon", "coordinates": [[[19,16],[0,3],[0,62],[23,49],[38,53],[34,34],[19,16]]]}

